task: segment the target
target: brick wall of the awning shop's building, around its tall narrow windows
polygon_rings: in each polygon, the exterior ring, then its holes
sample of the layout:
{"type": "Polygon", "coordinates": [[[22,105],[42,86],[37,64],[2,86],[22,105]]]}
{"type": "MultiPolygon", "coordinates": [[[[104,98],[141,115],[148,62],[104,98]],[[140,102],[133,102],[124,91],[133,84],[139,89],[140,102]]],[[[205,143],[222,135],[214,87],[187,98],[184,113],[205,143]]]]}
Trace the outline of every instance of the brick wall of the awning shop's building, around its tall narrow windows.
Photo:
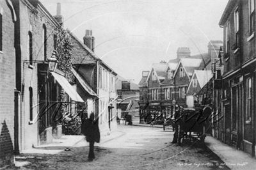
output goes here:
{"type": "MultiPolygon", "coordinates": [[[[13,1],[15,2],[15,1],[13,1]]],[[[21,148],[20,150],[27,150],[33,145],[39,144],[38,141],[38,63],[33,63],[33,68],[29,68],[29,63],[25,62],[29,59],[29,38],[28,32],[31,31],[33,37],[33,60],[44,60],[44,39],[43,39],[43,25],[46,27],[46,56],[52,55],[54,50],[53,33],[56,29],[49,17],[39,6],[33,6],[28,1],[20,1],[20,4],[15,4],[15,9],[18,11],[20,18],[19,31],[20,31],[20,57],[21,57],[21,84],[24,88],[22,90],[22,103],[21,103],[21,124],[22,131],[20,132],[21,148]],[[24,67],[23,67],[24,66],[24,67]],[[29,87],[33,89],[33,123],[29,123],[29,87]]]]}

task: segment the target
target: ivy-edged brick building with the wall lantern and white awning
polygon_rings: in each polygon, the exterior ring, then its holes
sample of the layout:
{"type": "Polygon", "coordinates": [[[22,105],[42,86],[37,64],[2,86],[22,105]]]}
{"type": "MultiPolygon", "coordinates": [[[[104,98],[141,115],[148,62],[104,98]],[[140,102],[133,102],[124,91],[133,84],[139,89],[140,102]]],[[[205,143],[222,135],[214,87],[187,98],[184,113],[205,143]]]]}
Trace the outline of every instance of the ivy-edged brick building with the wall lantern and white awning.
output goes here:
{"type": "Polygon", "coordinates": [[[74,112],[72,103],[83,100],[65,79],[65,73],[49,69],[60,24],[40,1],[13,1],[13,7],[17,15],[15,79],[20,91],[15,99],[15,149],[23,151],[61,136],[61,89],[67,93],[66,111],[74,112]]]}

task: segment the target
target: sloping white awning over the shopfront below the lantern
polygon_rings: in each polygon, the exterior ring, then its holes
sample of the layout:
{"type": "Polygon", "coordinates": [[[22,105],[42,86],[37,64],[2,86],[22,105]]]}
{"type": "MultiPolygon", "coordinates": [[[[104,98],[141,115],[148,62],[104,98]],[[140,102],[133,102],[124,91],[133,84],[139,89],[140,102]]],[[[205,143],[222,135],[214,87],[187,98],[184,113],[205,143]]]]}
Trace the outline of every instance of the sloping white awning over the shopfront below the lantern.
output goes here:
{"type": "Polygon", "coordinates": [[[69,84],[67,79],[58,73],[51,72],[56,81],[60,84],[60,86],[65,90],[68,96],[76,102],[84,102],[84,100],[78,95],[76,90],[69,84]]]}

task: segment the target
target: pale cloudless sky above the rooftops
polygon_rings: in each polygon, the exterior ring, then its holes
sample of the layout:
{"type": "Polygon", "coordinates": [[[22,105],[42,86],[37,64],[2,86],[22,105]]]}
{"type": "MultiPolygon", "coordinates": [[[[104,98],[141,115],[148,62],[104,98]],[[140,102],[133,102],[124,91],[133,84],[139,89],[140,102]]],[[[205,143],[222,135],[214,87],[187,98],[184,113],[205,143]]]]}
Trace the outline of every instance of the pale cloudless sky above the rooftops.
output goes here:
{"type": "Polygon", "coordinates": [[[41,0],[56,15],[61,3],[64,28],[83,40],[95,37],[95,54],[118,75],[138,83],[152,63],[207,52],[210,40],[223,40],[218,25],[228,0],[41,0]]]}

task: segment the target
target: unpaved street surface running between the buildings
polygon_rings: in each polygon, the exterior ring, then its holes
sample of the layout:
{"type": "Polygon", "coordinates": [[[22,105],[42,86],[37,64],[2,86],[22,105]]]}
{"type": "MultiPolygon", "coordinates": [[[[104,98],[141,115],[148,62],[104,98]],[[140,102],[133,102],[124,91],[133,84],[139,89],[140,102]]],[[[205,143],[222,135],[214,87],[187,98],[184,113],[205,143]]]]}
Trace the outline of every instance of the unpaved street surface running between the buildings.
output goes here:
{"type": "Polygon", "coordinates": [[[173,132],[124,125],[118,131],[122,135],[97,144],[94,162],[88,162],[88,143],[82,140],[55,155],[22,155],[31,164],[20,169],[227,169],[202,143],[171,144],[173,132]]]}

